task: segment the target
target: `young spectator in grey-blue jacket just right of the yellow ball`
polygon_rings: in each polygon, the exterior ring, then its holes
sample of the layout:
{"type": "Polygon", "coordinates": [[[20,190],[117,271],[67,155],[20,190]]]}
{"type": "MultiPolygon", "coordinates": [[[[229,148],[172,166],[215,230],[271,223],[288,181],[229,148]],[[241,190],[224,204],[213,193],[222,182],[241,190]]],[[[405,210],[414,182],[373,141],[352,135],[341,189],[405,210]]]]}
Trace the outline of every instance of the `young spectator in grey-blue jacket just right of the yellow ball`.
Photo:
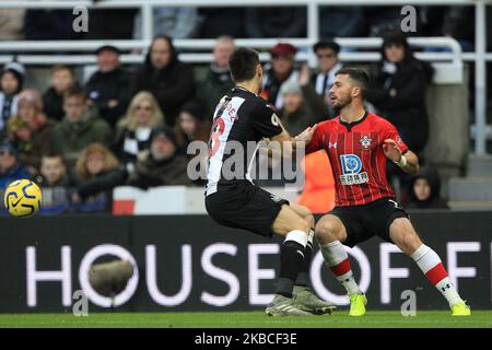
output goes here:
{"type": "Polygon", "coordinates": [[[39,214],[55,215],[70,210],[70,191],[73,184],[61,154],[44,154],[39,175],[35,176],[34,180],[43,190],[39,214]]]}

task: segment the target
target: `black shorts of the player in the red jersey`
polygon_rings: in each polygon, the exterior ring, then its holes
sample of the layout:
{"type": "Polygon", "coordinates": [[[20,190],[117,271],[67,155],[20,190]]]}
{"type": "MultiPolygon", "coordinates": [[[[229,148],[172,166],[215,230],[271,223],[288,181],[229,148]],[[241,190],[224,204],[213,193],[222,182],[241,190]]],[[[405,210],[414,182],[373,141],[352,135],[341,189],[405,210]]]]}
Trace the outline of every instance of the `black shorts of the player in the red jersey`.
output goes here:
{"type": "Polygon", "coordinates": [[[335,207],[329,214],[341,220],[347,231],[344,245],[353,247],[373,236],[394,243],[389,225],[395,219],[409,218],[401,206],[391,198],[382,198],[364,206],[335,207]]]}

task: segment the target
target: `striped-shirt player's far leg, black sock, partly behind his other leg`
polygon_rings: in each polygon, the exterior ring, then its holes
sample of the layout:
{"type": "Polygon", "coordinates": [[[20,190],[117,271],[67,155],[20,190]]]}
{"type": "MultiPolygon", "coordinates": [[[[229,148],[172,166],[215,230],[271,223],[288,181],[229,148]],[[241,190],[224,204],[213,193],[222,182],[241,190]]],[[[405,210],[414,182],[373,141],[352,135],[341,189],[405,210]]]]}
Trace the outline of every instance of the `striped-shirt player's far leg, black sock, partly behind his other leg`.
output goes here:
{"type": "Polygon", "coordinates": [[[331,314],[337,306],[319,299],[309,288],[309,268],[313,257],[313,240],[315,219],[307,207],[291,203],[290,207],[309,224],[306,247],[304,248],[304,264],[294,282],[293,295],[303,310],[314,314],[331,314]]]}

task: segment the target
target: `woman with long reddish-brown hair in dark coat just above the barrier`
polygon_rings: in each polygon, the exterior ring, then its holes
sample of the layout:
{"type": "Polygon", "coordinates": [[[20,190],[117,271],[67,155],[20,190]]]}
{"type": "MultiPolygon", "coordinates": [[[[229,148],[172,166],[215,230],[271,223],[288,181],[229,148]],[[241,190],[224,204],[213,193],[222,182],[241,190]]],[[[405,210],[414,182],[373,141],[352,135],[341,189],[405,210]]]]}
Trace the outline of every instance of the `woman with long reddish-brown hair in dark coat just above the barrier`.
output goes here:
{"type": "Polygon", "coordinates": [[[89,144],[75,165],[72,203],[79,212],[110,212],[113,188],[122,185],[127,172],[102,143],[89,144]]]}

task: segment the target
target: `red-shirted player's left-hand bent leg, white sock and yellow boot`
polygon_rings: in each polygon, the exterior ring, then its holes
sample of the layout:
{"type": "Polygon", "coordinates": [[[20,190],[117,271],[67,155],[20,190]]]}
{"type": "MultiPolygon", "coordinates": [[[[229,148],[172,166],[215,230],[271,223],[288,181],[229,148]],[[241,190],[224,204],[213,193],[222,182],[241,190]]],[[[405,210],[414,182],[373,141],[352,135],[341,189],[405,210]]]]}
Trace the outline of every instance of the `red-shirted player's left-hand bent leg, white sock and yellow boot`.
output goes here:
{"type": "Polygon", "coordinates": [[[319,219],[315,232],[325,262],[350,296],[349,315],[365,315],[367,299],[355,282],[349,255],[342,245],[347,240],[345,226],[336,215],[327,214],[319,219]]]}

